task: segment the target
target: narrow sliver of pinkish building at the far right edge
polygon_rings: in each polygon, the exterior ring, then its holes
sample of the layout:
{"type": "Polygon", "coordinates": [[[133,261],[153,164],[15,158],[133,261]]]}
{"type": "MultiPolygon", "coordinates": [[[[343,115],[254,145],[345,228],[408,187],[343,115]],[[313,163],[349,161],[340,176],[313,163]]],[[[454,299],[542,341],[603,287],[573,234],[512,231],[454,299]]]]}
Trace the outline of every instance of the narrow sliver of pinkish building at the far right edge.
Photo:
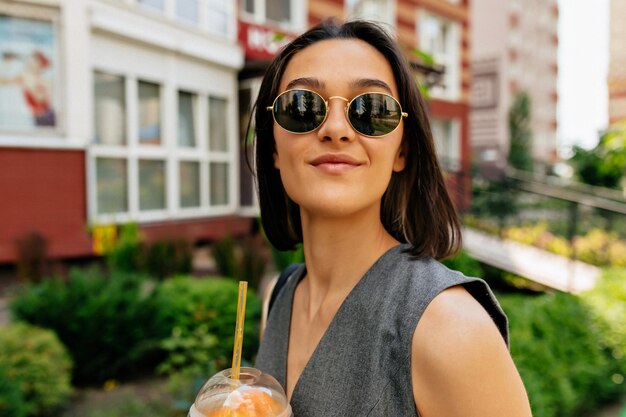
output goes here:
{"type": "Polygon", "coordinates": [[[626,119],[626,2],[611,0],[609,31],[609,124],[626,119]]]}

